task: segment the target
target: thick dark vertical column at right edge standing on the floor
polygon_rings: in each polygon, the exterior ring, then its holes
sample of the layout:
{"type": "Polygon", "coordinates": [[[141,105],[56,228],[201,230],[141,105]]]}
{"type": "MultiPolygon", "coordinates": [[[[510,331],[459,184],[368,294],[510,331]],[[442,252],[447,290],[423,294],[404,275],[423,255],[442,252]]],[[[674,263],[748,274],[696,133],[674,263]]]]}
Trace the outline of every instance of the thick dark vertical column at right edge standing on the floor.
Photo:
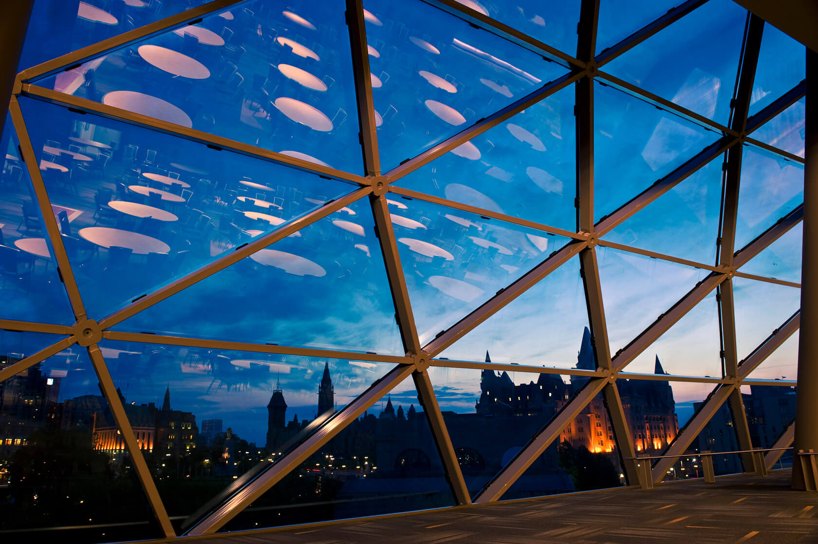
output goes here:
{"type": "MultiPolygon", "coordinates": [[[[798,337],[793,488],[806,489],[799,451],[818,451],[818,53],[807,49],[807,141],[804,164],[804,238],[801,335],[798,337]]],[[[812,457],[812,456],[810,456],[812,457]]]]}

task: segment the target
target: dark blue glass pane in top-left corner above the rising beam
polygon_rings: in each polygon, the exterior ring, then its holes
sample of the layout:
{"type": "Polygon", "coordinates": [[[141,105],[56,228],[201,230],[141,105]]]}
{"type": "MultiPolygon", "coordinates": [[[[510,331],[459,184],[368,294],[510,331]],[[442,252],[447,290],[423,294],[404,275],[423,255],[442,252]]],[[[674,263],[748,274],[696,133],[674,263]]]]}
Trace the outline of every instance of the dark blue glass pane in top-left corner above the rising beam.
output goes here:
{"type": "Polygon", "coordinates": [[[36,0],[19,70],[207,3],[207,0],[36,0]]]}

